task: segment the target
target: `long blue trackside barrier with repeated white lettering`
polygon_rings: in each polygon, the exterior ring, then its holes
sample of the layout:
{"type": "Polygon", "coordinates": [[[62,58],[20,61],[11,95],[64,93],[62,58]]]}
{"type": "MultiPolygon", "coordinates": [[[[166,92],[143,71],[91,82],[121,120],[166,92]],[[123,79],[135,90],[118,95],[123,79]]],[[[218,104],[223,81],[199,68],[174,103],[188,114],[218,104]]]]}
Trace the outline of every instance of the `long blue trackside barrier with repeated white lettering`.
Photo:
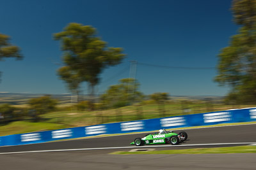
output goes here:
{"type": "Polygon", "coordinates": [[[256,108],[227,110],[179,117],[153,118],[131,122],[74,127],[54,131],[33,132],[28,134],[13,134],[0,137],[0,146],[24,145],[42,143],[59,139],[82,138],[99,134],[121,134],[127,132],[155,131],[156,129],[173,129],[177,127],[192,127],[236,122],[256,121],[256,108]]]}

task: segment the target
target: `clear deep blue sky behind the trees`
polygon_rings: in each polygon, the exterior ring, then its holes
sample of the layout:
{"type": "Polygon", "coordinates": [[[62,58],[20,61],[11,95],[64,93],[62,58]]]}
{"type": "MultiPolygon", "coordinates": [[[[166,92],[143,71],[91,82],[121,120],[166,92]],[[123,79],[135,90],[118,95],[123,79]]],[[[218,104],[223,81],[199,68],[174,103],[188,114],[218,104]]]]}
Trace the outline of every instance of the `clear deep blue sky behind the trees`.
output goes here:
{"type": "MultiPolygon", "coordinates": [[[[56,75],[60,43],[52,34],[70,22],[92,25],[109,46],[122,47],[127,58],[101,74],[98,92],[129,77],[129,60],[160,66],[216,67],[217,55],[238,26],[232,22],[231,0],[3,0],[0,32],[20,46],[23,60],[0,62],[0,92],[65,94],[56,75]]],[[[145,94],[223,96],[227,87],[213,82],[216,70],[137,66],[145,94]]],[[[83,84],[86,94],[86,84],[83,84]]]]}

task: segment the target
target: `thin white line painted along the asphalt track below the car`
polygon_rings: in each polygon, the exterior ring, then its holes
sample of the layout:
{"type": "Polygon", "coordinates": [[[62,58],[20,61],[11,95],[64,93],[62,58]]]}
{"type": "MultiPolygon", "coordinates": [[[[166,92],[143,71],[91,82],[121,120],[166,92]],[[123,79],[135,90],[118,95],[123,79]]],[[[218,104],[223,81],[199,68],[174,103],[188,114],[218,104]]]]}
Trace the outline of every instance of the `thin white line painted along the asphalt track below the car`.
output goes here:
{"type": "Polygon", "coordinates": [[[0,155],[15,154],[15,153],[40,153],[40,152],[65,152],[65,151],[82,151],[82,150],[109,150],[109,149],[125,149],[125,148],[158,148],[158,147],[179,147],[179,146],[207,146],[207,145],[249,145],[255,144],[250,143],[205,143],[205,144],[194,144],[194,145],[157,145],[157,146],[121,146],[121,147],[108,147],[108,148],[79,148],[79,149],[66,149],[66,150],[34,150],[24,152],[2,152],[0,155]]]}

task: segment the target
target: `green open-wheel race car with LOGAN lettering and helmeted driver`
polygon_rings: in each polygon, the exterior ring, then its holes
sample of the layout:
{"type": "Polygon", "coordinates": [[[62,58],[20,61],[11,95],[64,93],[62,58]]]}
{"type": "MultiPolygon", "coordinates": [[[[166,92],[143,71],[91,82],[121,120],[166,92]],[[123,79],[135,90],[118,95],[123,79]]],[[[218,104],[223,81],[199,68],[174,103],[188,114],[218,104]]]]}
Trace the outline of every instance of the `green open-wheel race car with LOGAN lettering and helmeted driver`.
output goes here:
{"type": "Polygon", "coordinates": [[[158,133],[156,132],[155,134],[147,134],[144,138],[136,138],[130,144],[136,146],[163,143],[178,145],[179,143],[186,141],[186,139],[188,139],[188,134],[184,131],[177,134],[173,131],[166,131],[165,129],[160,129],[158,133]]]}

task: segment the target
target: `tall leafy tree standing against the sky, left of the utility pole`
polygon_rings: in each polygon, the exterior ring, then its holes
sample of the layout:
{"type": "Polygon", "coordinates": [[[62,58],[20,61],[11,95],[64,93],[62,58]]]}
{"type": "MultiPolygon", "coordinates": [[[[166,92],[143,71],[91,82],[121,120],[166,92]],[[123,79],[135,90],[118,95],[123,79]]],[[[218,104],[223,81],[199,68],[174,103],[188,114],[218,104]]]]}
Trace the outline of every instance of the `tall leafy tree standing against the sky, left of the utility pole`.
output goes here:
{"type": "Polygon", "coordinates": [[[125,56],[122,48],[108,47],[106,42],[96,36],[95,28],[89,25],[68,24],[64,31],[54,34],[54,39],[61,41],[61,50],[65,52],[63,64],[67,71],[78,77],[79,83],[88,82],[91,100],[100,73],[106,67],[120,64],[125,56]]]}

